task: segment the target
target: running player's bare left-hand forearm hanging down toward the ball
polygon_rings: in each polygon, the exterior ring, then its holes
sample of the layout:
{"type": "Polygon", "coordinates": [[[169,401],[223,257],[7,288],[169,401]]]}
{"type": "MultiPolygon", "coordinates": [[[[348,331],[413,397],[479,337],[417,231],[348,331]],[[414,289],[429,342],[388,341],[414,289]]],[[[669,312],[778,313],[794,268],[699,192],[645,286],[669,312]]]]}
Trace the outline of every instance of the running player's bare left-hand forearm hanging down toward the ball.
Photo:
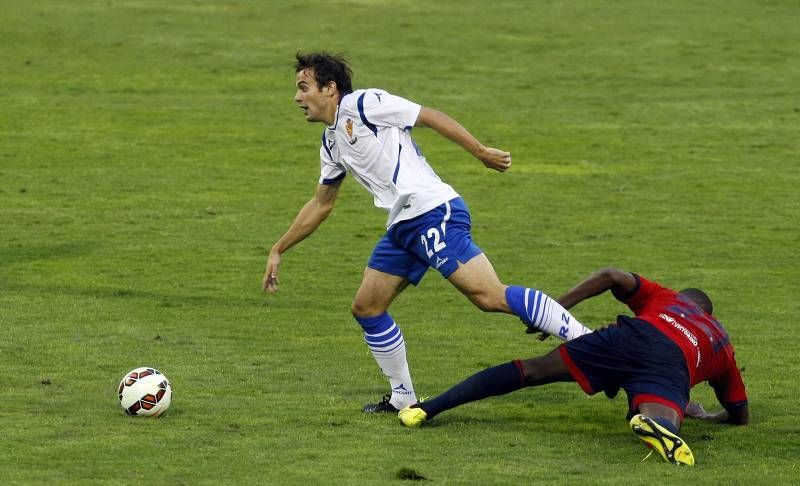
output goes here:
{"type": "Polygon", "coordinates": [[[272,293],[278,290],[278,269],[281,264],[281,256],[289,248],[306,239],[325,221],[325,218],[333,211],[339,186],[341,186],[341,181],[317,186],[314,197],[300,209],[286,233],[272,245],[262,281],[264,292],[272,293]]]}

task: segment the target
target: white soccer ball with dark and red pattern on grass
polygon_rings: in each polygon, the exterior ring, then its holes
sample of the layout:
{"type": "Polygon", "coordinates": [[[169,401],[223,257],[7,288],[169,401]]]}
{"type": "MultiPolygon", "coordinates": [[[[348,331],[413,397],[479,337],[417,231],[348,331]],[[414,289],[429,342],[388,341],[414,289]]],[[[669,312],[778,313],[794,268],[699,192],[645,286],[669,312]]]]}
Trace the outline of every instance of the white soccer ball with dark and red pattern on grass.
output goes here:
{"type": "Polygon", "coordinates": [[[172,401],[172,386],[155,368],[136,368],[119,382],[119,404],[128,415],[158,417],[172,401]]]}

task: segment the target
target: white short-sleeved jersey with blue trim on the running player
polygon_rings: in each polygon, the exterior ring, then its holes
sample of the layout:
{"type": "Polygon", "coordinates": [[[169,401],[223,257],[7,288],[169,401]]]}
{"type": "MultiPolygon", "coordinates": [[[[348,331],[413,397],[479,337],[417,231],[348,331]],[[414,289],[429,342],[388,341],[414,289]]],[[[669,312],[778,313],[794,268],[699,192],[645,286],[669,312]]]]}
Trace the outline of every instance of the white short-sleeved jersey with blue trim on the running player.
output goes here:
{"type": "Polygon", "coordinates": [[[322,134],[320,184],[350,173],[389,212],[386,226],[414,218],[458,193],[442,182],[411,138],[421,107],[379,89],[342,97],[322,134]]]}

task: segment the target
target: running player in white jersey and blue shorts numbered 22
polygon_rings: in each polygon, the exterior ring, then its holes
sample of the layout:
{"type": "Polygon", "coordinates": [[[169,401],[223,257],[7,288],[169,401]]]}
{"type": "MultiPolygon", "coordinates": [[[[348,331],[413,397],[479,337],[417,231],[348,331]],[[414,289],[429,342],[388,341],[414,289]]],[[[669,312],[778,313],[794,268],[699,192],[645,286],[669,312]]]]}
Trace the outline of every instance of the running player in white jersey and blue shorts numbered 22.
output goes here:
{"type": "Polygon", "coordinates": [[[365,405],[364,412],[397,412],[417,402],[403,334],[387,310],[409,283],[419,283],[428,267],[483,311],[514,314],[530,329],[563,340],[590,332],[544,293],[500,281],[472,242],[466,204],[428,165],[411,131],[430,127],[499,172],[511,166],[511,154],[484,146],[442,112],[380,89],[353,91],[350,67],[340,56],[296,57],[294,100],[307,121],[325,125],[321,174],[314,196],[272,246],[263,288],[277,290],[281,257],[330,214],[347,174],[373,195],[375,206],[388,212],[386,234],[373,250],[351,307],[391,388],[383,400],[365,405]]]}

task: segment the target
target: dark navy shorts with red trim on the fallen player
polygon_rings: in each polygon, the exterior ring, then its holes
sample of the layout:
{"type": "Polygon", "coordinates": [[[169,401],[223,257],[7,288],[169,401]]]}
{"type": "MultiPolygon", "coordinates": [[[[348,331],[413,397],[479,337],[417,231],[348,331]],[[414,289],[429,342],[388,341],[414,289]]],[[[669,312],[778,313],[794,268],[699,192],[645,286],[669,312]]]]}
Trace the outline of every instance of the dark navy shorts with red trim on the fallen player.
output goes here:
{"type": "Polygon", "coordinates": [[[660,403],[683,418],[689,371],[681,348],[652,324],[618,316],[617,323],[561,346],[561,357],[583,391],[622,388],[628,419],[642,403],[660,403]]]}

